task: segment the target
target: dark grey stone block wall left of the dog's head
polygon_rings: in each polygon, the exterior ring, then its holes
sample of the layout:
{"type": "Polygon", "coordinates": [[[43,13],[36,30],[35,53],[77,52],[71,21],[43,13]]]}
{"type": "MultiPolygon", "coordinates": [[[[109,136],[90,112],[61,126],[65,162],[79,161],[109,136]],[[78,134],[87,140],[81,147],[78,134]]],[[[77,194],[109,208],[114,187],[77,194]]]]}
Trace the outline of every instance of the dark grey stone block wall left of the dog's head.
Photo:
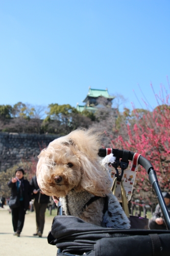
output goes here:
{"type": "Polygon", "coordinates": [[[0,171],[20,162],[36,158],[57,135],[0,133],[0,171]]]}

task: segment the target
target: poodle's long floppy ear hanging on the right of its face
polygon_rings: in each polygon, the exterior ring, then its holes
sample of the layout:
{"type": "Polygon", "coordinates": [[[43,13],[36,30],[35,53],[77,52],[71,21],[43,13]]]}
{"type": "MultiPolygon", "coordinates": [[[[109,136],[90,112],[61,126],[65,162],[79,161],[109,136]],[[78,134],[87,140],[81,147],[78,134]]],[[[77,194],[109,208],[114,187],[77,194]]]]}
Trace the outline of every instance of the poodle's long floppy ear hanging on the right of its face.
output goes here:
{"type": "Polygon", "coordinates": [[[110,193],[111,184],[108,173],[98,161],[91,162],[86,156],[80,156],[81,183],[78,190],[86,190],[95,196],[105,197],[110,193]]]}

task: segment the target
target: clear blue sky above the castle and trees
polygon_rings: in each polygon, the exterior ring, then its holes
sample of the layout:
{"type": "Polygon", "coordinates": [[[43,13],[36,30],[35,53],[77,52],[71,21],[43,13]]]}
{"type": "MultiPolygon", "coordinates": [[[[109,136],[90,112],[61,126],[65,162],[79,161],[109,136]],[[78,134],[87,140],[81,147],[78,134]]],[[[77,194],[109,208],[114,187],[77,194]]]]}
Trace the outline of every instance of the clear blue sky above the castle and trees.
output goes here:
{"type": "Polygon", "coordinates": [[[89,86],[151,106],[170,80],[169,0],[1,0],[0,104],[81,104],[89,86]],[[138,97],[135,97],[135,94],[138,97]]]}

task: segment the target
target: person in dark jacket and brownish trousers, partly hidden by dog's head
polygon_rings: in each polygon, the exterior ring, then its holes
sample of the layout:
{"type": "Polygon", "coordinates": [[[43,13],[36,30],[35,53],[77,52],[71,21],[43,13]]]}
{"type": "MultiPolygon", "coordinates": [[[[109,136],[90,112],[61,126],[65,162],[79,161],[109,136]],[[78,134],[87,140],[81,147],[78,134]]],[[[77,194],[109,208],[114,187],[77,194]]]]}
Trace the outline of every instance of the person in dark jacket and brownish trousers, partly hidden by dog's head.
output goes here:
{"type": "Polygon", "coordinates": [[[30,185],[32,187],[32,193],[34,197],[34,208],[36,212],[36,226],[37,231],[33,234],[33,236],[42,237],[44,223],[45,223],[45,210],[48,205],[49,196],[46,196],[39,188],[37,183],[37,177],[34,176],[30,181],[30,185]]]}

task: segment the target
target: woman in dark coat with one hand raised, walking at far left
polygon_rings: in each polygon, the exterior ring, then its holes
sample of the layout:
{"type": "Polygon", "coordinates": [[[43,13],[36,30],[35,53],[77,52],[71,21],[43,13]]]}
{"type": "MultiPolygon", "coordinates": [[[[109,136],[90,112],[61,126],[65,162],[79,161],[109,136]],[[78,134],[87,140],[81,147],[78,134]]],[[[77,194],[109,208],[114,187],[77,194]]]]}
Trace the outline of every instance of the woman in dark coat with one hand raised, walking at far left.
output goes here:
{"type": "Polygon", "coordinates": [[[11,196],[18,196],[19,206],[12,208],[12,224],[14,235],[19,237],[25,221],[26,210],[30,206],[31,201],[31,186],[28,180],[23,178],[24,170],[17,168],[15,178],[8,182],[11,188],[11,196]]]}

